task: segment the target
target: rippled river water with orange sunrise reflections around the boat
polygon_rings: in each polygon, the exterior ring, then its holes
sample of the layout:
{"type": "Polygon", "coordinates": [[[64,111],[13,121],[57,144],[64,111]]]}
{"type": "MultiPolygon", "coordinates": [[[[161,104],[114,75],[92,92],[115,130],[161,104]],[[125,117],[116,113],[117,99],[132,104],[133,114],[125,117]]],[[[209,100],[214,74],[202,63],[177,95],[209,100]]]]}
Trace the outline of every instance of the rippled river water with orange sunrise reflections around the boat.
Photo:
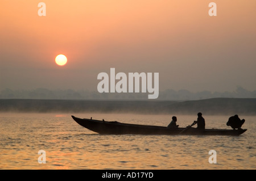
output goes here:
{"type": "MultiPolygon", "coordinates": [[[[167,126],[172,115],[75,116],[167,126]]],[[[180,127],[197,118],[176,116],[180,127]]],[[[203,116],[206,128],[229,129],[229,116],[203,116]]],[[[1,113],[0,169],[256,169],[256,117],[240,117],[248,129],[241,136],[145,136],[100,135],[69,114],[1,113]],[[38,163],[39,150],[46,151],[46,164],[38,163]],[[209,163],[209,150],[216,150],[216,164],[209,163]]]]}

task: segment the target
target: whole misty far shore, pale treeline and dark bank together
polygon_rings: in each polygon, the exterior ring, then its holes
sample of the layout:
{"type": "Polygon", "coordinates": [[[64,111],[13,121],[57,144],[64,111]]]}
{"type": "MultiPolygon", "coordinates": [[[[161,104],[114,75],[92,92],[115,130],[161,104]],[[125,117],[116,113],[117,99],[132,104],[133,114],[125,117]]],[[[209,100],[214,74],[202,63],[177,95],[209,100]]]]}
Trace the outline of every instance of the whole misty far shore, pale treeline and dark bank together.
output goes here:
{"type": "Polygon", "coordinates": [[[256,91],[238,86],[233,92],[166,90],[159,98],[143,93],[102,93],[75,90],[0,91],[0,112],[101,112],[208,115],[256,115],[256,91]]]}

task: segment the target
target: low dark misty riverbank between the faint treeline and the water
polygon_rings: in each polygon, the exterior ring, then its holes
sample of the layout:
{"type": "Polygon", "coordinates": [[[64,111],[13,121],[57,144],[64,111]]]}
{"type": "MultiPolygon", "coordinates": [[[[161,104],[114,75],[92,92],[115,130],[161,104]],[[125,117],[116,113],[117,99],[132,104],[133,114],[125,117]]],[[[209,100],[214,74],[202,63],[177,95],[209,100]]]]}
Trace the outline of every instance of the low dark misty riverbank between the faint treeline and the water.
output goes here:
{"type": "Polygon", "coordinates": [[[207,115],[256,115],[256,99],[212,98],[190,101],[0,99],[0,112],[102,112],[207,115]]]}

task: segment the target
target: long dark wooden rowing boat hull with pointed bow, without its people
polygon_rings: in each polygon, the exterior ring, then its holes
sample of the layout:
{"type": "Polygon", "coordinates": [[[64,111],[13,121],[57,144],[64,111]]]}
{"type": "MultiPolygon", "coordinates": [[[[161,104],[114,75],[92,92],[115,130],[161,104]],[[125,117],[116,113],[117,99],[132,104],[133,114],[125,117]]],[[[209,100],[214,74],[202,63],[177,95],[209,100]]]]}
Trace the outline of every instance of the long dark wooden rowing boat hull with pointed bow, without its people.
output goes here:
{"type": "Polygon", "coordinates": [[[234,135],[238,136],[247,129],[204,129],[199,130],[192,127],[168,129],[155,125],[140,125],[119,123],[117,121],[72,118],[82,127],[100,134],[187,134],[187,135],[234,135]]]}

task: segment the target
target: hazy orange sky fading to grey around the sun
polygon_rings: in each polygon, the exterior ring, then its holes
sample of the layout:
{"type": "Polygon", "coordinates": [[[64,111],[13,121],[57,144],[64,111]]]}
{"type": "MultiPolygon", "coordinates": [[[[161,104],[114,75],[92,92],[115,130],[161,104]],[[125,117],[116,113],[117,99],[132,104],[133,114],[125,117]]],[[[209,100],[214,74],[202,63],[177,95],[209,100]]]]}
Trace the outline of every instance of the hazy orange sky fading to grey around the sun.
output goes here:
{"type": "Polygon", "coordinates": [[[255,7],[251,0],[1,0],[0,90],[97,91],[97,75],[115,68],[159,73],[160,91],[253,91],[255,7]],[[209,16],[210,2],[217,16],[209,16]],[[66,65],[55,63],[58,54],[66,65]]]}

